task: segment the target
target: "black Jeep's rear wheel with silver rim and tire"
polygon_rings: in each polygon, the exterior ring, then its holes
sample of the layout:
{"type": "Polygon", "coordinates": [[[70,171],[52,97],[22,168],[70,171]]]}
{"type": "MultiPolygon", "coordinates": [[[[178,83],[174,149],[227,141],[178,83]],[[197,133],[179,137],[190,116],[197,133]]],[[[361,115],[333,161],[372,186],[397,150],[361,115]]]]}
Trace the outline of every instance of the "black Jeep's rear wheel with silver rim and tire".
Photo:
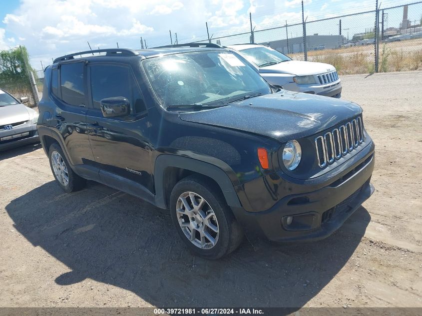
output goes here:
{"type": "Polygon", "coordinates": [[[48,150],[48,159],[53,176],[64,192],[78,191],[85,186],[86,180],[73,172],[66,156],[57,143],[51,144],[48,150]]]}

